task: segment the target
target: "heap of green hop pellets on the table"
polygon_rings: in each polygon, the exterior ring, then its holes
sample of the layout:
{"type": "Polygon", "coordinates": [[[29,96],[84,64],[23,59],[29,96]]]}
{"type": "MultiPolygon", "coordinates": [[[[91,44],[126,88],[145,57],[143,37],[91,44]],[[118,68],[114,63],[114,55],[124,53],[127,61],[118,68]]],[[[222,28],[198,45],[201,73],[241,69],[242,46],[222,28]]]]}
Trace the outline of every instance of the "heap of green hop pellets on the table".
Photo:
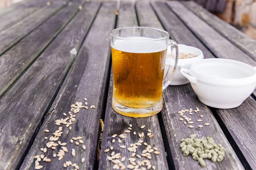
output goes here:
{"type": "Polygon", "coordinates": [[[225,148],[221,144],[216,144],[212,136],[203,136],[201,139],[192,134],[189,138],[180,140],[180,148],[184,156],[192,155],[201,167],[205,167],[204,159],[211,159],[212,162],[221,162],[225,156],[225,148]]]}

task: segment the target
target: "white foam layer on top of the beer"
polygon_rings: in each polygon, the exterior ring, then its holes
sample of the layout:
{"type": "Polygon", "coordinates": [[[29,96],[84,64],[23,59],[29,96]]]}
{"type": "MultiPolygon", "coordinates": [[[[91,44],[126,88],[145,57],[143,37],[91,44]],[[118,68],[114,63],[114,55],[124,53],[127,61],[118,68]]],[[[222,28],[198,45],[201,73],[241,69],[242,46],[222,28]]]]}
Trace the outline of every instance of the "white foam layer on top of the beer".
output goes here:
{"type": "Polygon", "coordinates": [[[155,53],[166,50],[166,40],[154,40],[148,37],[126,37],[128,40],[115,40],[112,48],[128,53],[155,53]],[[129,40],[130,39],[130,40],[129,40]],[[138,40],[136,40],[138,39],[138,40]],[[145,40],[145,41],[144,41],[145,40]]]}

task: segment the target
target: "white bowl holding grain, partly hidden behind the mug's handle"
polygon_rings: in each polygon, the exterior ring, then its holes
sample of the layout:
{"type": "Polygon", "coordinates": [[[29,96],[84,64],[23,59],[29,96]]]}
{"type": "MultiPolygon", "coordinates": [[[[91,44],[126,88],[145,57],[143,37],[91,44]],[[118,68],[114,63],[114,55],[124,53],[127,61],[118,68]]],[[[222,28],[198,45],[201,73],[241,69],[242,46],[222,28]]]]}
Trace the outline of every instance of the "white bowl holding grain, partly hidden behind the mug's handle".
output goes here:
{"type": "MultiPolygon", "coordinates": [[[[177,70],[175,71],[174,77],[172,78],[170,85],[185,85],[189,83],[189,80],[186,79],[186,77],[184,77],[182,74],[180,74],[180,68],[189,69],[194,62],[204,59],[203,52],[198,48],[188,46],[188,45],[183,45],[183,44],[178,44],[178,47],[179,47],[179,53],[186,53],[186,54],[190,53],[193,55],[197,55],[197,57],[188,58],[188,59],[178,59],[177,70]]],[[[170,55],[171,55],[171,50],[168,49],[167,57],[170,55]]],[[[169,64],[170,64],[170,57],[166,58],[164,75],[166,75],[166,70],[168,69],[169,64]]]]}

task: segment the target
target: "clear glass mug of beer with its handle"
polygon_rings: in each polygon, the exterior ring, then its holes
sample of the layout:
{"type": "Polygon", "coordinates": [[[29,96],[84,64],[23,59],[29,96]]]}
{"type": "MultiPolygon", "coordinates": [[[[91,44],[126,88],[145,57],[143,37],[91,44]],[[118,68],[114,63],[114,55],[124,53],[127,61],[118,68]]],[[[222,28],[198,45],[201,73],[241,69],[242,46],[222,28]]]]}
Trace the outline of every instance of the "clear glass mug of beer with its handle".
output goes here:
{"type": "Polygon", "coordinates": [[[163,89],[171,82],[177,67],[177,43],[169,40],[168,32],[157,28],[116,28],[111,31],[111,52],[113,109],[130,117],[159,113],[163,108],[163,89]],[[168,45],[172,57],[164,76],[168,45]]]}

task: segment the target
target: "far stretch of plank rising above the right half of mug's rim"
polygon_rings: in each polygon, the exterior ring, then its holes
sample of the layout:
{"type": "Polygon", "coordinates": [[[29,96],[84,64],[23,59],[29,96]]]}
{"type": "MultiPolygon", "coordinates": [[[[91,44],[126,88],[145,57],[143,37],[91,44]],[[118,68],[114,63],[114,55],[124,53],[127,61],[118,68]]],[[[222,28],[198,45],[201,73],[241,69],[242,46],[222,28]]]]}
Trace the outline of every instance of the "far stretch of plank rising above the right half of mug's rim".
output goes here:
{"type": "Polygon", "coordinates": [[[140,18],[140,26],[153,27],[163,30],[163,26],[161,26],[157,16],[154,14],[154,12],[151,12],[152,8],[149,1],[137,1],[135,7],[137,9],[137,17],[140,18]],[[151,26],[148,25],[149,20],[152,21],[151,26]]]}

